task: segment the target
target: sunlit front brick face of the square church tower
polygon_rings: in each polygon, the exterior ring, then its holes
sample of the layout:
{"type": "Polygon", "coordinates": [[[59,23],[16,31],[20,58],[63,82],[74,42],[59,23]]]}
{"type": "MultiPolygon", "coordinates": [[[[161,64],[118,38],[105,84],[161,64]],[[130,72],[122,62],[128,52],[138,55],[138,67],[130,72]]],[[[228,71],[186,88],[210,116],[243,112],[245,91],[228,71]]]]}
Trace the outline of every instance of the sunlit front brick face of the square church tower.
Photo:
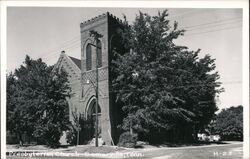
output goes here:
{"type": "Polygon", "coordinates": [[[89,104],[91,100],[95,100],[95,86],[96,86],[96,48],[92,46],[92,69],[86,71],[86,47],[88,43],[94,43],[94,39],[89,36],[89,31],[94,30],[103,37],[99,40],[102,44],[102,67],[99,68],[99,105],[101,108],[101,120],[99,124],[101,125],[101,137],[103,141],[107,144],[111,144],[111,123],[110,123],[110,111],[109,111],[109,83],[108,83],[108,18],[107,14],[96,17],[85,23],[81,23],[81,43],[82,43],[82,85],[84,88],[84,97],[82,99],[83,113],[87,116],[86,112],[89,109],[89,104]],[[91,83],[86,83],[87,80],[91,80],[95,86],[91,83]]]}

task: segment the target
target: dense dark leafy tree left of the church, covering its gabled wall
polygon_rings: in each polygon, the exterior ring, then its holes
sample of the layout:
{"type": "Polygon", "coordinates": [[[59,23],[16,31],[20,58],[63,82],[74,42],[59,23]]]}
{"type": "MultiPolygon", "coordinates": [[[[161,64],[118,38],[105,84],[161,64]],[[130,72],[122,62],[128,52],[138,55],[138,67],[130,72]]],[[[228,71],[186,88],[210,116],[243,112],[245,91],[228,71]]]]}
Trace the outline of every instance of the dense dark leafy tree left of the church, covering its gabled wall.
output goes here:
{"type": "Polygon", "coordinates": [[[7,128],[57,145],[68,129],[69,91],[65,71],[26,56],[24,65],[7,77],[7,128]]]}

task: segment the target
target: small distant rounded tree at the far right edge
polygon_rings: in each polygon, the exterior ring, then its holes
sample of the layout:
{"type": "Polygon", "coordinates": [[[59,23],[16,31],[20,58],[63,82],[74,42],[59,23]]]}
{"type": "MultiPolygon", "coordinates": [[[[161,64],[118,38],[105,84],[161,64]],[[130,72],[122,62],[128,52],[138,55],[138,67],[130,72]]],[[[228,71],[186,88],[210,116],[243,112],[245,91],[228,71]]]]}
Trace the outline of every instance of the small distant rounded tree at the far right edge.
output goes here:
{"type": "Polygon", "coordinates": [[[211,126],[213,134],[219,134],[222,140],[243,140],[243,107],[222,109],[211,126]]]}

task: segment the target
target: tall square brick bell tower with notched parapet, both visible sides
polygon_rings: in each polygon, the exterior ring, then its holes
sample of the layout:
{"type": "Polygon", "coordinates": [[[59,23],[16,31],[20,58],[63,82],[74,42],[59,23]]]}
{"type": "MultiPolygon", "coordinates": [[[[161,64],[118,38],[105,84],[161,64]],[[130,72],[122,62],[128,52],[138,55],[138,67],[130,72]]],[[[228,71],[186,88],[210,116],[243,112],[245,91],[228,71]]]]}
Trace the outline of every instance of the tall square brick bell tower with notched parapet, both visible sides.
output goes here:
{"type": "MultiPolygon", "coordinates": [[[[110,63],[114,34],[122,27],[122,21],[110,13],[105,13],[80,24],[81,29],[81,86],[82,99],[80,111],[85,117],[98,91],[98,130],[99,137],[106,145],[113,145],[117,140],[116,111],[110,98],[110,63]],[[95,32],[100,36],[90,35],[95,32]],[[113,41],[112,41],[113,39],[113,41]],[[96,66],[98,71],[96,71],[96,66]],[[97,80],[98,79],[98,80],[97,80]],[[98,82],[98,89],[97,87],[98,82]]],[[[119,41],[115,41],[118,42],[119,41]]]]}

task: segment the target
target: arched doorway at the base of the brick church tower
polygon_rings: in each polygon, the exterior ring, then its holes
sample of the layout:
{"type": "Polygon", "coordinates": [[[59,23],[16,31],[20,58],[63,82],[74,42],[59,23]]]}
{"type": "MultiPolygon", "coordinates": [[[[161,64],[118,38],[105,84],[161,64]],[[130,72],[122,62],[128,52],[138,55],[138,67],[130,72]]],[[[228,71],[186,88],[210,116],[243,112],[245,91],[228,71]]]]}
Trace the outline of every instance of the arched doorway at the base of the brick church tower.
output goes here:
{"type": "MultiPolygon", "coordinates": [[[[87,108],[87,120],[90,122],[90,125],[91,125],[91,134],[90,136],[92,138],[95,137],[95,125],[96,125],[96,110],[95,110],[95,107],[96,107],[96,99],[92,99],[91,102],[89,103],[88,105],[88,108],[87,108]]],[[[98,115],[98,136],[100,137],[101,135],[101,108],[100,108],[100,105],[98,105],[98,111],[97,111],[97,115],[98,115]]]]}

